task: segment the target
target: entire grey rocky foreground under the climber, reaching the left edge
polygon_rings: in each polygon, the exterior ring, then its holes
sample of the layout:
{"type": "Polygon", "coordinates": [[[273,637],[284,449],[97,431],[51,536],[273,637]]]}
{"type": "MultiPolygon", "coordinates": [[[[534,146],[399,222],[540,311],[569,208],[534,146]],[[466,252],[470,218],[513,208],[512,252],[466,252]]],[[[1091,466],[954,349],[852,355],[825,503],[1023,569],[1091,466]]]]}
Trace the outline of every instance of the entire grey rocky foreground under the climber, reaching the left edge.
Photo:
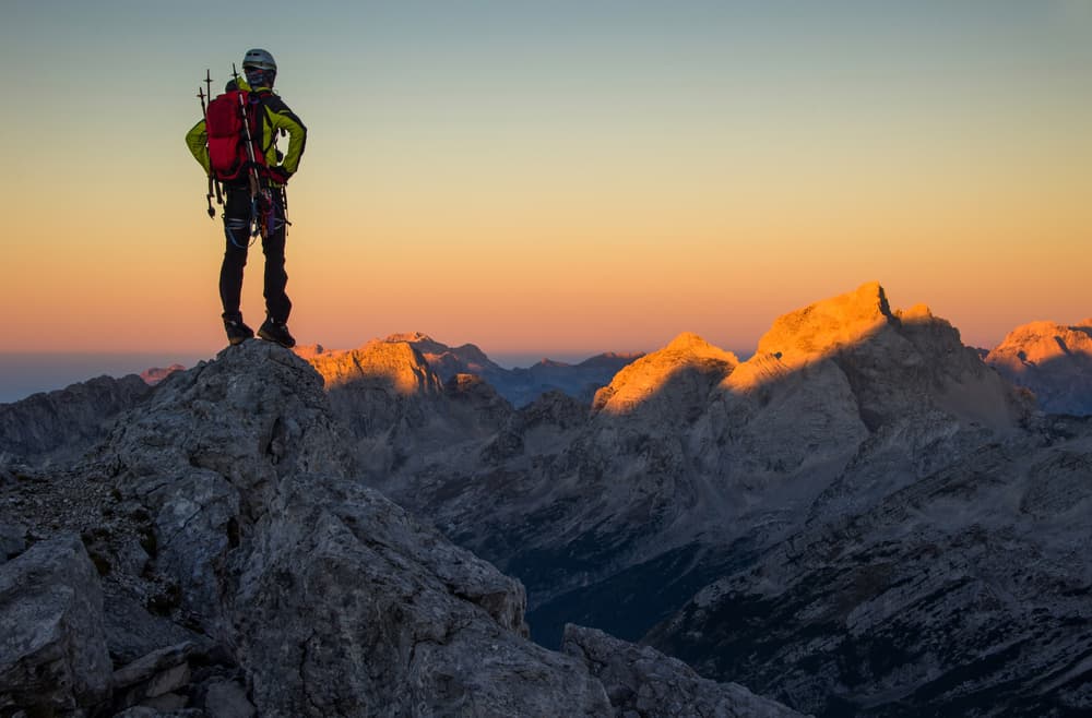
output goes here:
{"type": "Polygon", "coordinates": [[[322,379],[261,342],[176,372],[66,470],[0,475],[4,716],[791,716],[602,633],[357,476],[322,379]]]}

